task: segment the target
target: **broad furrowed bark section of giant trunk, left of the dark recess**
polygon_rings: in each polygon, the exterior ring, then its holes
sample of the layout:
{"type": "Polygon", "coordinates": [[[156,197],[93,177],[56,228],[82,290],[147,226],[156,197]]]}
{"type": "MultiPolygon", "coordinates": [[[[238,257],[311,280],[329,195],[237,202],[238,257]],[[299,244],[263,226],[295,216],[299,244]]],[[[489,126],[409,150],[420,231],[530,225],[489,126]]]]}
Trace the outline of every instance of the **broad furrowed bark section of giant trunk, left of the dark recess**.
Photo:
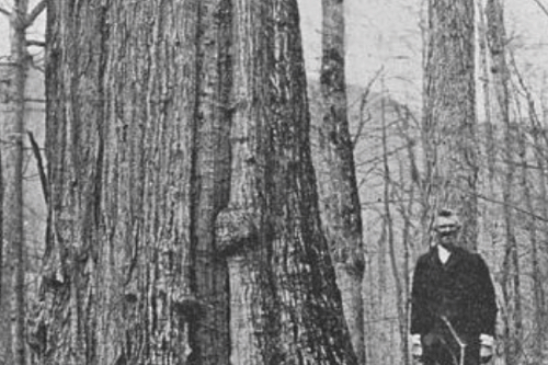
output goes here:
{"type": "Polygon", "coordinates": [[[128,364],[184,363],[195,353],[189,322],[203,309],[191,294],[190,252],[196,2],[113,1],[110,21],[104,179],[113,191],[104,205],[122,288],[110,304],[122,301],[113,355],[128,364]]]}

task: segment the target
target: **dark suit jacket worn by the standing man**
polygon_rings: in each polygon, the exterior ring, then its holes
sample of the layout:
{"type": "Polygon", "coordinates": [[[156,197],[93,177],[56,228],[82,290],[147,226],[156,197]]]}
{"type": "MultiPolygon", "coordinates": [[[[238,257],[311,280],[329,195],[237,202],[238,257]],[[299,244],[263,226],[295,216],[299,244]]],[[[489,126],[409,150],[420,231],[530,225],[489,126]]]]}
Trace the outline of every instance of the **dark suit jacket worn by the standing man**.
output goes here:
{"type": "Polygon", "coordinates": [[[460,335],[494,335],[494,288],[486,262],[477,253],[456,249],[442,264],[433,248],[419,258],[411,306],[412,334],[444,327],[441,318],[445,316],[460,335]]]}

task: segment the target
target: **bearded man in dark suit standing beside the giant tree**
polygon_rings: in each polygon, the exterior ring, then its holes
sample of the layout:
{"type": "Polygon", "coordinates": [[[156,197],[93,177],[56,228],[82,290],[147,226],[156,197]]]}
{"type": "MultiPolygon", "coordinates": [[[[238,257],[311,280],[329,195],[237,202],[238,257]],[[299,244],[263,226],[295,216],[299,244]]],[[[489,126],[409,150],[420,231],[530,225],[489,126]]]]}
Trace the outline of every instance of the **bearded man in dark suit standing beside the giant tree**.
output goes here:
{"type": "Polygon", "coordinates": [[[479,254],[457,246],[460,223],[452,210],[439,212],[434,229],[436,239],[413,274],[413,356],[424,365],[487,363],[496,319],[489,270],[479,254]]]}

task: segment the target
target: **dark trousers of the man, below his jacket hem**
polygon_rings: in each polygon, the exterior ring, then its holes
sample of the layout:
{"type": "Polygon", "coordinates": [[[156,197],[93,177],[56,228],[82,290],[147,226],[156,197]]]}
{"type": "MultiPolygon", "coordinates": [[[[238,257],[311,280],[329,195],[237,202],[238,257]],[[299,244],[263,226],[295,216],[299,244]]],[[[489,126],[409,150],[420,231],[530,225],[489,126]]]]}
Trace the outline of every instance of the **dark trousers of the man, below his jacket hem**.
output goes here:
{"type": "Polygon", "coordinates": [[[448,331],[435,331],[422,337],[422,361],[424,365],[479,365],[480,344],[478,335],[459,335],[466,343],[463,350],[448,331]]]}

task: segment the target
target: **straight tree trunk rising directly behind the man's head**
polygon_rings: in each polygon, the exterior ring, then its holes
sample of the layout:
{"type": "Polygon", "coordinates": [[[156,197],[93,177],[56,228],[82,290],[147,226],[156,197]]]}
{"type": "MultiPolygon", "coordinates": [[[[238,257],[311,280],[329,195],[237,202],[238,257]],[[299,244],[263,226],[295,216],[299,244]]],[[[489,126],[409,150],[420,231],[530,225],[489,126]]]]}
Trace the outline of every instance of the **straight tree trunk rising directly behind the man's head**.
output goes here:
{"type": "Polygon", "coordinates": [[[473,14],[467,0],[429,2],[423,117],[424,226],[437,208],[455,208],[469,249],[476,249],[478,235],[473,14]]]}

